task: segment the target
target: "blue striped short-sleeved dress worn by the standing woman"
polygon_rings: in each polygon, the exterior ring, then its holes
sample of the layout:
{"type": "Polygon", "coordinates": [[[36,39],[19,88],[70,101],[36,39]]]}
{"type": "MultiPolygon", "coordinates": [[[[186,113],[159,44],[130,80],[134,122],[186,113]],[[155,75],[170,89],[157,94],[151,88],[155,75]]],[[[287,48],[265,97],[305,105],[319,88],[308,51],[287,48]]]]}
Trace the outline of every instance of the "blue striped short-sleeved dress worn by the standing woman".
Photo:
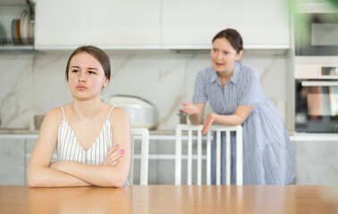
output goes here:
{"type": "MultiPolygon", "coordinates": [[[[232,78],[222,88],[214,68],[200,70],[193,103],[207,103],[217,114],[230,115],[239,105],[254,105],[243,122],[243,184],[285,185],[295,176],[287,129],[275,105],[264,95],[258,70],[236,62],[232,78]]],[[[215,137],[214,137],[215,138],[215,137]]],[[[222,136],[222,184],[225,183],[225,137],[222,136]]],[[[212,183],[215,184],[215,144],[212,147],[212,183]]],[[[235,137],[232,135],[232,184],[235,181],[235,137]]]]}

